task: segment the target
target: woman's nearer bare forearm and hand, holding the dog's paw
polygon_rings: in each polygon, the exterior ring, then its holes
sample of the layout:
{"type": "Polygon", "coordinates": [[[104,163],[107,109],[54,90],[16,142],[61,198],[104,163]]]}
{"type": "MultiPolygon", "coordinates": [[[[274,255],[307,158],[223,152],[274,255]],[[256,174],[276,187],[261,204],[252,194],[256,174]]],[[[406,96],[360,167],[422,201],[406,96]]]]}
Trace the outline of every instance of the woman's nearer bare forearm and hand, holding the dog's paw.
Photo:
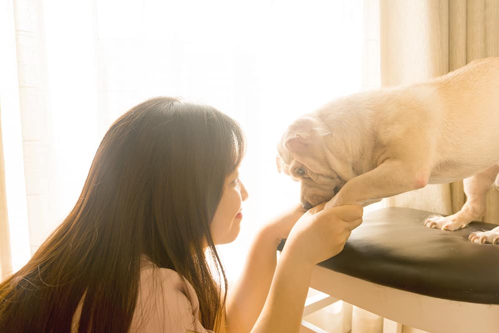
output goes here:
{"type": "Polygon", "coordinates": [[[322,204],[296,223],[283,223],[292,228],[252,333],[299,331],[313,267],[343,250],[351,231],[362,223],[362,213],[358,205],[324,209],[322,204]]]}

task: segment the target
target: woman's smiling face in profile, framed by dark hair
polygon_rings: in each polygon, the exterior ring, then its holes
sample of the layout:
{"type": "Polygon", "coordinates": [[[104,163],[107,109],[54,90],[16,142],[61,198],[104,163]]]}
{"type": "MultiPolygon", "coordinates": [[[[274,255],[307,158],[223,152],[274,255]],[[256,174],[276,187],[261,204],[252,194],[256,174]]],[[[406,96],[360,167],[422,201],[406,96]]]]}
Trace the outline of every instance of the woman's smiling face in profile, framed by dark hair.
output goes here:
{"type": "Polygon", "coordinates": [[[247,198],[248,192],[239,180],[239,170],[236,168],[225,180],[224,193],[211,224],[215,244],[231,243],[238,237],[243,219],[241,208],[247,198]]]}

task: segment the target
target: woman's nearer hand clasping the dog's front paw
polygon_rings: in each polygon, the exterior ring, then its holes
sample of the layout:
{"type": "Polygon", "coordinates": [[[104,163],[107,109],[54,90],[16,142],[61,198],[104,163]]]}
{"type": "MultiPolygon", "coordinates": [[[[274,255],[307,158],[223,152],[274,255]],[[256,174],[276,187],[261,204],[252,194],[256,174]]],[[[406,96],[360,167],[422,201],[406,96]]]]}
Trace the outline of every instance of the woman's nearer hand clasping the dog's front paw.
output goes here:
{"type": "Polygon", "coordinates": [[[315,265],[343,250],[353,229],[362,223],[363,208],[346,205],[324,209],[320,204],[307,211],[292,227],[284,251],[292,257],[315,265]]]}

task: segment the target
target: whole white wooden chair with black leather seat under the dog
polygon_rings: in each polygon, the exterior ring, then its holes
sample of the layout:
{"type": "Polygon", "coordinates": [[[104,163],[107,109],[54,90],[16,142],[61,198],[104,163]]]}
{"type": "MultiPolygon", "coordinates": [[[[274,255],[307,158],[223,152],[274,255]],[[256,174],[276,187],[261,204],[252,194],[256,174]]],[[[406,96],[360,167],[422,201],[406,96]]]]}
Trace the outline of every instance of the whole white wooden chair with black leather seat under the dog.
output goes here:
{"type": "MultiPolygon", "coordinates": [[[[330,296],[307,299],[304,316],[337,300],[431,333],[499,332],[499,246],[468,240],[496,225],[474,222],[450,232],[426,228],[434,213],[384,208],[364,215],[343,251],[312,273],[310,287],[330,296]]],[[[326,333],[302,321],[302,333],[326,333]]]]}

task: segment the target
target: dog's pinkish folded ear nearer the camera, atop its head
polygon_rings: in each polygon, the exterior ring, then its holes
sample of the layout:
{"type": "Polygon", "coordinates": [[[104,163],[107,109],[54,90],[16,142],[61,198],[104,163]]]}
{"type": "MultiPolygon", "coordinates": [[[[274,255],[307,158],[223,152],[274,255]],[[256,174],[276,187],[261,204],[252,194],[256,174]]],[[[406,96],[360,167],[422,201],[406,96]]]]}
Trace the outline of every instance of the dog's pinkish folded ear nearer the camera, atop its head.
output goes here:
{"type": "Polygon", "coordinates": [[[290,153],[303,153],[315,137],[327,134],[329,131],[316,119],[304,116],[289,126],[284,145],[290,153]]]}

